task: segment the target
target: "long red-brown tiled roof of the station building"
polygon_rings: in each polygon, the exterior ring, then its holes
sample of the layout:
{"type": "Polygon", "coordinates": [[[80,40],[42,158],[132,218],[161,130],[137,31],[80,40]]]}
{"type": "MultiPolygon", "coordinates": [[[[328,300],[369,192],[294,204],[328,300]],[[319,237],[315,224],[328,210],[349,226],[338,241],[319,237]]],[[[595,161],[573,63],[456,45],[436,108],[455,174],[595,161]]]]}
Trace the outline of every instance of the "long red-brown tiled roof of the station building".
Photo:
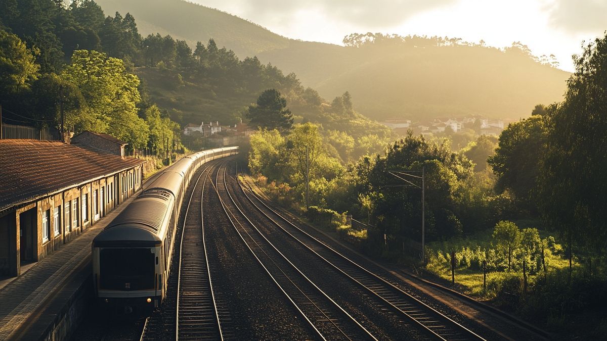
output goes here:
{"type": "Polygon", "coordinates": [[[0,140],[0,211],[144,162],[56,141],[0,140]]]}

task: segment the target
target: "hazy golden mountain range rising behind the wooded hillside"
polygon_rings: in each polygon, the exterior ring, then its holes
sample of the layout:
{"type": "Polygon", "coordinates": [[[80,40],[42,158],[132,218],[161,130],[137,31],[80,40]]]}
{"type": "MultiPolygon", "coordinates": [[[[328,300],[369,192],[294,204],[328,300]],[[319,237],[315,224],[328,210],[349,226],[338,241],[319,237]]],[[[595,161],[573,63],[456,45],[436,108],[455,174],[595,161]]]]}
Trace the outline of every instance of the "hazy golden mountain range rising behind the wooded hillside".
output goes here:
{"type": "Polygon", "coordinates": [[[526,51],[387,39],[356,47],[284,38],[228,13],[181,0],[97,0],[106,15],[135,16],[142,35],[214,38],[240,58],[257,55],[333,98],[348,90],[362,114],[382,120],[484,115],[515,119],[561,101],[570,73],[526,51]],[[445,46],[447,45],[447,46],[445,46]]]}

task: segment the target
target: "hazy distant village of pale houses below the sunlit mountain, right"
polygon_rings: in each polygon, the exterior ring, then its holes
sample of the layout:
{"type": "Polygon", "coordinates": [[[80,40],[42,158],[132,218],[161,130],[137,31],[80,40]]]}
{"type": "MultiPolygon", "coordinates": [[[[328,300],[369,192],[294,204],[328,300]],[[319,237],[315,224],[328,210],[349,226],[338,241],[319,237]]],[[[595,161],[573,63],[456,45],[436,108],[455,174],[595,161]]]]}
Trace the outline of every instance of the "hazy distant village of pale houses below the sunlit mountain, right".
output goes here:
{"type": "Polygon", "coordinates": [[[464,130],[474,130],[480,135],[500,135],[504,130],[504,120],[490,120],[482,116],[469,116],[463,118],[435,118],[432,121],[404,120],[393,118],[382,122],[385,126],[398,133],[405,134],[407,130],[413,130],[415,134],[424,136],[441,133],[458,133],[464,130]]]}

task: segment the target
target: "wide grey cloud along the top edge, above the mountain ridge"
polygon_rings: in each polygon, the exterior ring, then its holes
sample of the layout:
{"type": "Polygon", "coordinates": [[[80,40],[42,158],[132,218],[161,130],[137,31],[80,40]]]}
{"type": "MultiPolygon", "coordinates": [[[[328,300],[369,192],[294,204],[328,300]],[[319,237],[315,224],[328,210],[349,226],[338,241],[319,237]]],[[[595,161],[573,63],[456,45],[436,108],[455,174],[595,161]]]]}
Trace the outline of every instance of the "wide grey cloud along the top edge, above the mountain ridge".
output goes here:
{"type": "MultiPolygon", "coordinates": [[[[284,24],[303,10],[313,8],[329,18],[367,29],[382,29],[400,24],[417,13],[458,0],[236,0],[229,7],[234,13],[253,21],[284,24]]],[[[225,8],[225,0],[197,0],[198,3],[225,8]]],[[[260,23],[260,22],[258,22],[260,23]]]]}

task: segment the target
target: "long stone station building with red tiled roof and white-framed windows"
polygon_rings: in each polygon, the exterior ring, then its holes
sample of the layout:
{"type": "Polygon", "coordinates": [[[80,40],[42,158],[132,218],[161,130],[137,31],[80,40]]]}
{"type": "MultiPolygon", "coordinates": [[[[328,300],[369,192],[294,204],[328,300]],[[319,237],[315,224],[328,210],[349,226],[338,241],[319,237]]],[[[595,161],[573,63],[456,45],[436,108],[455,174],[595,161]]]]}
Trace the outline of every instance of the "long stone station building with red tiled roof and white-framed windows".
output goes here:
{"type": "Polygon", "coordinates": [[[0,276],[18,276],[138,191],[144,160],[83,132],[71,144],[0,140],[0,276]]]}

